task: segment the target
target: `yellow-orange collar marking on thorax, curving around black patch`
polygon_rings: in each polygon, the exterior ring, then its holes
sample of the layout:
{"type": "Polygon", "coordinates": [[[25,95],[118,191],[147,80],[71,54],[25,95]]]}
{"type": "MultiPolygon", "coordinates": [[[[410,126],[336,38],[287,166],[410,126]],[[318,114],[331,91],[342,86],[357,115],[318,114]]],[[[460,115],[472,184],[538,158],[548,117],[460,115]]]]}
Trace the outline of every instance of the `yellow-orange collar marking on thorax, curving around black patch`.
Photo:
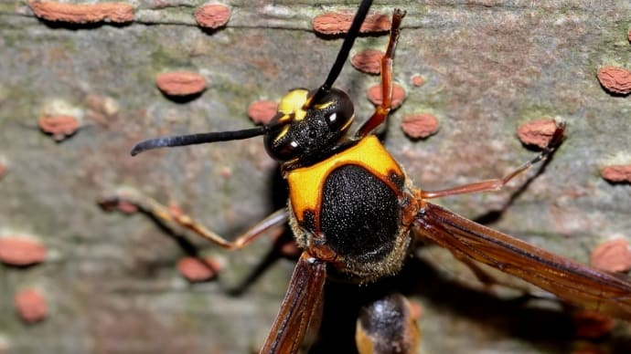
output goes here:
{"type": "Polygon", "coordinates": [[[371,135],[345,151],[312,166],[302,167],[287,175],[289,200],[299,222],[303,221],[305,210],[316,211],[321,203],[321,193],[326,177],[337,167],[356,164],[387,180],[389,172],[402,175],[401,167],[390,152],[381,145],[377,137],[371,135]]]}

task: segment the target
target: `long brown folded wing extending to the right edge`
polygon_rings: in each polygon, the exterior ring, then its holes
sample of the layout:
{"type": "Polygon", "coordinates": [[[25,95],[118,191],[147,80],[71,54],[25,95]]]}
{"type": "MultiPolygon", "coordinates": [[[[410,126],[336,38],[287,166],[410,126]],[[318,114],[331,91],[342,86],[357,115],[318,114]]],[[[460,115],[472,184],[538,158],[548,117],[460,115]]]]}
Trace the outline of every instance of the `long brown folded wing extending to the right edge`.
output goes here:
{"type": "Polygon", "coordinates": [[[455,255],[490,265],[586,309],[631,320],[631,283],[426,203],[415,230],[455,255]]]}

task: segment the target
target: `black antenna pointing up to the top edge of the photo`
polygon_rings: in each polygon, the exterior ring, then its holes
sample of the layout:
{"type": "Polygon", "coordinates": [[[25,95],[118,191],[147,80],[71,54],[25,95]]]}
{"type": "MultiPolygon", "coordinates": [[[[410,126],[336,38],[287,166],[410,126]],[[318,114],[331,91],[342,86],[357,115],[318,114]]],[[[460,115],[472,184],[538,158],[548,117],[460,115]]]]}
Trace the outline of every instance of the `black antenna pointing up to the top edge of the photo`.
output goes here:
{"type": "Polygon", "coordinates": [[[350,28],[348,28],[347,36],[344,37],[344,43],[342,43],[342,47],[337,53],[336,61],[333,63],[333,67],[331,67],[331,70],[328,72],[325,83],[317,89],[315,95],[311,99],[307,100],[307,108],[312,102],[316,102],[321,99],[322,96],[326,95],[333,87],[339,73],[346,64],[348,53],[350,53],[350,49],[355,44],[355,39],[359,36],[359,29],[368,15],[370,5],[372,5],[372,0],[365,0],[359,4],[358,12],[355,14],[350,28]]]}

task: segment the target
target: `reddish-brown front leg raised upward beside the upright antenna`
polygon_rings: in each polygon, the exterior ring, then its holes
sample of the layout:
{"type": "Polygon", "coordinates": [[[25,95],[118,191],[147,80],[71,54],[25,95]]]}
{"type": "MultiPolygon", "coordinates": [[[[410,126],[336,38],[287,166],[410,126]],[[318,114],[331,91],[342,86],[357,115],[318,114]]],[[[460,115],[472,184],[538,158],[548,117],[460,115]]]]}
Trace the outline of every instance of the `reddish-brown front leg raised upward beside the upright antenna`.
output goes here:
{"type": "Polygon", "coordinates": [[[395,9],[392,14],[388,49],[386,49],[386,54],[381,58],[381,94],[383,98],[370,119],[359,128],[356,139],[364,138],[372,130],[379,127],[388,117],[390,109],[392,109],[392,60],[394,59],[394,47],[397,45],[399,33],[401,32],[403,16],[405,16],[405,12],[400,9],[395,9]]]}

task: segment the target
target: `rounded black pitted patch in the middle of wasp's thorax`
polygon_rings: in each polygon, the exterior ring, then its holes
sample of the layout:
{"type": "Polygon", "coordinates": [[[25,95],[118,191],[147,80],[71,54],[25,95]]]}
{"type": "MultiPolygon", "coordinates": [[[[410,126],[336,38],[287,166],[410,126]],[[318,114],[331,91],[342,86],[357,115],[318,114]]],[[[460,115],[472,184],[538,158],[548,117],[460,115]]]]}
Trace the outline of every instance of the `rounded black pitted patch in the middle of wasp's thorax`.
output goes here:
{"type": "Polygon", "coordinates": [[[397,194],[358,165],[345,165],[326,178],[320,229],[338,255],[375,262],[388,255],[400,224],[397,194]]]}

